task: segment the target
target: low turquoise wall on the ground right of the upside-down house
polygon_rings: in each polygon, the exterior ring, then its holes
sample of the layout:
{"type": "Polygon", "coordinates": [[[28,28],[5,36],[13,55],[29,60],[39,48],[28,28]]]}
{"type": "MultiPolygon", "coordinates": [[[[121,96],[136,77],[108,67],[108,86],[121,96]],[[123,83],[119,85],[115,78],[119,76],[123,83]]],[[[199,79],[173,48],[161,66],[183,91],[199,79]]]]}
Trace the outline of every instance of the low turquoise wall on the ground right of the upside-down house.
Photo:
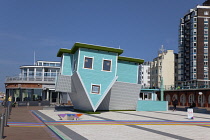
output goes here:
{"type": "Polygon", "coordinates": [[[168,111],[168,101],[138,100],[136,111],[168,111]]]}

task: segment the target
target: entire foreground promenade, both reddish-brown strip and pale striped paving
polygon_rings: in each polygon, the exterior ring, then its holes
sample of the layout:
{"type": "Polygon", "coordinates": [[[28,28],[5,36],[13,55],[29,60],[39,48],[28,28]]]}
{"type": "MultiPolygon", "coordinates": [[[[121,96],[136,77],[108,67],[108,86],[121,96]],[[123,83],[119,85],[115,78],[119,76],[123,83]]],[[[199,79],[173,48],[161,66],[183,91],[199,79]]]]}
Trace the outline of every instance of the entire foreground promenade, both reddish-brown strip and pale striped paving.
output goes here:
{"type": "Polygon", "coordinates": [[[5,139],[210,139],[210,114],[194,113],[195,118],[192,120],[187,119],[187,112],[184,111],[117,111],[84,114],[81,120],[63,121],[58,114],[76,112],[41,109],[41,107],[13,108],[8,122],[9,127],[5,128],[5,139]],[[31,124],[22,126],[23,122],[31,124]]]}

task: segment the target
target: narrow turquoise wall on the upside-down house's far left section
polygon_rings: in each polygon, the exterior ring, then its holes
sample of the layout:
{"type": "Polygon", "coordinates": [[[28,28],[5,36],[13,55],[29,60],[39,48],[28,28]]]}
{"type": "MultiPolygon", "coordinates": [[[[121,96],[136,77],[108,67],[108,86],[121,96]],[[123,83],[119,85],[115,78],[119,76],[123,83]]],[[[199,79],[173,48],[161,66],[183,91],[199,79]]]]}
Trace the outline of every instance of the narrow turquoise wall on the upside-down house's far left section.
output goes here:
{"type": "Polygon", "coordinates": [[[62,75],[72,75],[72,55],[63,54],[62,75]]]}

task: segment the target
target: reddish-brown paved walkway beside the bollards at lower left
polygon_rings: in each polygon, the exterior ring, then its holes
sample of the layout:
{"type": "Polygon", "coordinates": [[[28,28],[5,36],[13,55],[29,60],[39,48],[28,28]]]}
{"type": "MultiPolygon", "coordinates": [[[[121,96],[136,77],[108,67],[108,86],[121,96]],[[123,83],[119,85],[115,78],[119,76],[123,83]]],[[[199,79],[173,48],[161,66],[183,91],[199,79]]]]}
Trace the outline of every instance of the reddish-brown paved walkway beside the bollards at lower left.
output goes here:
{"type": "Polygon", "coordinates": [[[12,108],[9,127],[4,127],[5,140],[58,140],[59,138],[46,127],[30,110],[42,107],[12,108]]]}

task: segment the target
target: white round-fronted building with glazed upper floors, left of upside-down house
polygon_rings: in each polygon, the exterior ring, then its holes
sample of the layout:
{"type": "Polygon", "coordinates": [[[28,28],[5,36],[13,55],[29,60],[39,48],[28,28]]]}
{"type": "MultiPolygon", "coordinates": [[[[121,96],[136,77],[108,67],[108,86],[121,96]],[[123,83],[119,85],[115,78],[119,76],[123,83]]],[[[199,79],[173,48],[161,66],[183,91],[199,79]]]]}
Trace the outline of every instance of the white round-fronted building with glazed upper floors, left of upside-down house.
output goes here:
{"type": "Polygon", "coordinates": [[[59,93],[55,92],[55,80],[60,73],[60,62],[37,61],[35,65],[20,67],[18,76],[7,77],[6,95],[12,95],[19,105],[42,105],[59,103],[59,93]]]}

